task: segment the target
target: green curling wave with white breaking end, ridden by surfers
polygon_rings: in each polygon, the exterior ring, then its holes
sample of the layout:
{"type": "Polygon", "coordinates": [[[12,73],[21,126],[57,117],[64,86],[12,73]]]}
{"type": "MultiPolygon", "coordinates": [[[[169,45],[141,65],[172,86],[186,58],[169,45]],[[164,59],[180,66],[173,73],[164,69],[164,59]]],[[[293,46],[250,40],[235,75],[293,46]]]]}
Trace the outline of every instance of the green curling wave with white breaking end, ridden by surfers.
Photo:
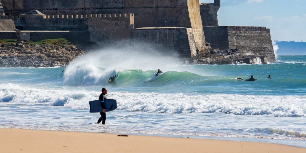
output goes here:
{"type": "Polygon", "coordinates": [[[159,76],[154,76],[156,71],[143,71],[140,69],[123,70],[105,70],[103,68],[76,67],[73,71],[65,73],[64,85],[103,85],[106,81],[117,73],[118,78],[115,82],[120,87],[138,87],[138,86],[165,86],[184,84],[194,80],[203,79],[203,76],[190,72],[167,71],[159,76]]]}

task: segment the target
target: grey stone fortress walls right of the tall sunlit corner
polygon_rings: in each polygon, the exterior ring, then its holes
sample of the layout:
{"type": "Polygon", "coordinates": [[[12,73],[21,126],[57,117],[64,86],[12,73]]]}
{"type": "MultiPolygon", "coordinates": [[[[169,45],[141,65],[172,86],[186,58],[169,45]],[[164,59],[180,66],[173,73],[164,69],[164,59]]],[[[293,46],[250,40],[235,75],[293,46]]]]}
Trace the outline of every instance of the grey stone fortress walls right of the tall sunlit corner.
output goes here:
{"type": "Polygon", "coordinates": [[[270,29],[250,26],[219,26],[220,0],[200,4],[205,38],[212,49],[237,48],[241,56],[261,58],[263,63],[275,61],[270,29]]]}

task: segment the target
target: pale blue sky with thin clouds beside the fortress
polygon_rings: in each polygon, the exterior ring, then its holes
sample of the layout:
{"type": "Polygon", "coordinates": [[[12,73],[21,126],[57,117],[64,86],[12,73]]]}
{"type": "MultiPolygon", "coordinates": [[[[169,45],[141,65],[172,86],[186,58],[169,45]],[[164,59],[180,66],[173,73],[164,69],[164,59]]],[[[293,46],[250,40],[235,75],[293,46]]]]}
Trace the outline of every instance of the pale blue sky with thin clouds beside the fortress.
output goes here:
{"type": "Polygon", "coordinates": [[[218,20],[219,25],[270,28],[272,40],[306,42],[306,0],[221,0],[218,20]]]}

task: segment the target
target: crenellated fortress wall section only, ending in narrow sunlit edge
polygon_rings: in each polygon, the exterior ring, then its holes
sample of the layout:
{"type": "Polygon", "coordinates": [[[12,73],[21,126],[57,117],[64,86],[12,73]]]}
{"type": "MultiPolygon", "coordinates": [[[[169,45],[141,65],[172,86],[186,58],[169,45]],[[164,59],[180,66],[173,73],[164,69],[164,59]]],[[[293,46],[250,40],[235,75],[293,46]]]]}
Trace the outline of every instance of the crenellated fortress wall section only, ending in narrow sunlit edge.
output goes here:
{"type": "Polygon", "coordinates": [[[95,42],[127,39],[134,28],[134,14],[21,15],[19,30],[88,31],[95,42]]]}

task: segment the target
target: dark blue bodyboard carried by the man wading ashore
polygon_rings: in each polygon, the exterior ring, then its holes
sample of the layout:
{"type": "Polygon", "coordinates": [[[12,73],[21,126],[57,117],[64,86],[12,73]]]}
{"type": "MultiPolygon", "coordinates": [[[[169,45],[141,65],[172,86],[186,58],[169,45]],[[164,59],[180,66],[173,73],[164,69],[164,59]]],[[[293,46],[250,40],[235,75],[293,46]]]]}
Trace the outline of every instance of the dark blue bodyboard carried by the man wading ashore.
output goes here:
{"type": "MultiPolygon", "coordinates": [[[[115,99],[104,99],[104,105],[106,108],[106,112],[113,111],[117,109],[117,101],[115,99]]],[[[94,100],[89,102],[90,113],[100,113],[103,112],[102,106],[100,104],[100,100],[94,100]]]]}

